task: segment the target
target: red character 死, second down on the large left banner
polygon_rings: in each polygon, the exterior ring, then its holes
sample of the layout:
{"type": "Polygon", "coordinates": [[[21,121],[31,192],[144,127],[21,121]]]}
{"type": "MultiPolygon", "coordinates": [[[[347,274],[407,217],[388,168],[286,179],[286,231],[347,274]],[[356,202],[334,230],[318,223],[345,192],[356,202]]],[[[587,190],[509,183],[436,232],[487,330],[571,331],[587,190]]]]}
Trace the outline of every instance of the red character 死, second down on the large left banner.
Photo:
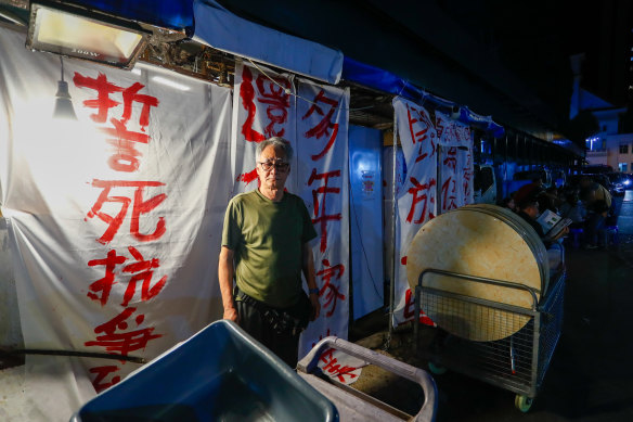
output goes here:
{"type": "Polygon", "coordinates": [[[103,191],[96,199],[96,202],[88,213],[88,218],[99,217],[102,221],[108,225],[106,231],[101,238],[98,239],[100,243],[107,244],[117,234],[125,216],[127,215],[128,208],[132,200],[127,196],[109,196],[109,192],[116,188],[134,188],[134,197],[132,205],[132,216],[130,220],[130,233],[141,242],[150,242],[159,239],[166,232],[165,218],[159,217],[156,223],[156,229],[151,234],[143,234],[140,232],[139,220],[142,214],[147,214],[154,208],[156,208],[167,195],[160,193],[147,201],[143,201],[143,191],[145,188],[150,187],[160,187],[165,183],[157,181],[124,181],[124,180],[92,180],[92,186],[100,188],[103,191]],[[121,204],[120,210],[116,216],[111,216],[105,212],[102,212],[102,207],[105,203],[119,203],[121,204]]]}

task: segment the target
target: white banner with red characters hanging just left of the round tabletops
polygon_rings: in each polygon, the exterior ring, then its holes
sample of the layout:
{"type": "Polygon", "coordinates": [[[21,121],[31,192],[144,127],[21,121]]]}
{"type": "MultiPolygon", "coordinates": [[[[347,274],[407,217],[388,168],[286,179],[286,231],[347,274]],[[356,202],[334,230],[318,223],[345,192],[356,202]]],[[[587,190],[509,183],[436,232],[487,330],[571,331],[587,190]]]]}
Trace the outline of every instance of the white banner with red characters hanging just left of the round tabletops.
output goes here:
{"type": "MultiPolygon", "coordinates": [[[[406,166],[398,192],[396,215],[395,325],[414,318],[414,303],[406,281],[406,251],[419,228],[436,215],[437,133],[428,112],[400,97],[393,99],[396,131],[406,166]]],[[[424,321],[427,321],[425,319],[424,321]]]]}

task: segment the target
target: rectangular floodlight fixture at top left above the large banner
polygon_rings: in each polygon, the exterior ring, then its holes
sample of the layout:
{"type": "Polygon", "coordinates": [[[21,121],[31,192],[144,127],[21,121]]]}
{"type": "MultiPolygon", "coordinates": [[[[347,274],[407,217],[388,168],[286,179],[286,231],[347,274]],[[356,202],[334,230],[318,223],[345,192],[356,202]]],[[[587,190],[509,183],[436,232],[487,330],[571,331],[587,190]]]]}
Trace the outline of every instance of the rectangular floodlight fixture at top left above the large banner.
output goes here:
{"type": "Polygon", "coordinates": [[[31,2],[26,47],[129,68],[148,33],[138,24],[49,1],[31,2]]]}

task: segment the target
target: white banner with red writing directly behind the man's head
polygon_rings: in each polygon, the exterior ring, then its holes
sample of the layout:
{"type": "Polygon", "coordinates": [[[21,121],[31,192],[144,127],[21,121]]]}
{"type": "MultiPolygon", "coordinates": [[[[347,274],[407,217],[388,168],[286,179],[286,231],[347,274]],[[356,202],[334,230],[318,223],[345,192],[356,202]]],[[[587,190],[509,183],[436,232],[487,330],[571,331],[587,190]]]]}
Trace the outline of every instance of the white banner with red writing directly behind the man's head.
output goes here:
{"type": "MultiPolygon", "coordinates": [[[[233,94],[233,139],[231,164],[233,192],[248,192],[258,188],[257,144],[271,137],[281,137],[296,150],[294,76],[279,75],[268,68],[235,66],[233,94]]],[[[290,166],[286,189],[297,192],[296,158],[290,166]]]]}

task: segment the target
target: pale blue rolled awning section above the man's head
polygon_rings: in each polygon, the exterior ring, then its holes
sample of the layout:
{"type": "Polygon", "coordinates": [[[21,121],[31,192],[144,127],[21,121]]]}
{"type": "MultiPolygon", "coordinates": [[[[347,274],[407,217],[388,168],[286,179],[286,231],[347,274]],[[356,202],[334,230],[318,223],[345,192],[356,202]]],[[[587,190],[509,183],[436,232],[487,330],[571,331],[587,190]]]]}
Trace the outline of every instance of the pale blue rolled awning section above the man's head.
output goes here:
{"type": "Polygon", "coordinates": [[[214,0],[193,3],[193,39],[215,49],[336,85],[343,53],[234,15],[214,0]]]}

